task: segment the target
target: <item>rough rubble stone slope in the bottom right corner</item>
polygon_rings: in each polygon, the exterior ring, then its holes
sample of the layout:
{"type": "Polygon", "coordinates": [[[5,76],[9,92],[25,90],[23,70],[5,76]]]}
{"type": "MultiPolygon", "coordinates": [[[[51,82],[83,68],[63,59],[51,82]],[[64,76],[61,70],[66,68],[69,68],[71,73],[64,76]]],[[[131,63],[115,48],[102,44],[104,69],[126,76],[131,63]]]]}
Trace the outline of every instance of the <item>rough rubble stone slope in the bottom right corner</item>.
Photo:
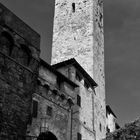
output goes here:
{"type": "Polygon", "coordinates": [[[124,127],[109,133],[105,140],[139,140],[140,139],[140,118],[126,124],[124,127]]]}

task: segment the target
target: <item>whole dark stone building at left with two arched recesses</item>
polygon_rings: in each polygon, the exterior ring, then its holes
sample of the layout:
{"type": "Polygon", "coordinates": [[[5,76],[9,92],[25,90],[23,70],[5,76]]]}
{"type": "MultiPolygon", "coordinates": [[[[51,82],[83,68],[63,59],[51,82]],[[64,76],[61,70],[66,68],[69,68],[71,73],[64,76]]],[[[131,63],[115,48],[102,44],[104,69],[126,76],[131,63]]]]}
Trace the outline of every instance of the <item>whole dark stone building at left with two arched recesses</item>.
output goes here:
{"type": "Polygon", "coordinates": [[[32,94],[38,77],[39,54],[40,35],[0,4],[2,135],[26,134],[31,116],[32,94]]]}

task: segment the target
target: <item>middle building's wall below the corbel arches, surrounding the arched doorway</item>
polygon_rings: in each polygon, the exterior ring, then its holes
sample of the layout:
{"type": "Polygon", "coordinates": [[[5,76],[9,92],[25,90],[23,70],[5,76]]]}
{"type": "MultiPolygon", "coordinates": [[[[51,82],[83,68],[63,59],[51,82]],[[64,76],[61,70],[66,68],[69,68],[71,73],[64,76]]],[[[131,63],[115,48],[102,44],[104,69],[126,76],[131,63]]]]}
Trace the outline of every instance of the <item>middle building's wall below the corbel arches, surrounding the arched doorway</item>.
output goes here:
{"type": "Polygon", "coordinates": [[[37,94],[33,99],[38,101],[38,113],[28,126],[28,135],[39,136],[41,132],[50,131],[58,140],[67,140],[70,112],[37,94]],[[47,106],[52,107],[51,116],[46,114],[47,106]]]}

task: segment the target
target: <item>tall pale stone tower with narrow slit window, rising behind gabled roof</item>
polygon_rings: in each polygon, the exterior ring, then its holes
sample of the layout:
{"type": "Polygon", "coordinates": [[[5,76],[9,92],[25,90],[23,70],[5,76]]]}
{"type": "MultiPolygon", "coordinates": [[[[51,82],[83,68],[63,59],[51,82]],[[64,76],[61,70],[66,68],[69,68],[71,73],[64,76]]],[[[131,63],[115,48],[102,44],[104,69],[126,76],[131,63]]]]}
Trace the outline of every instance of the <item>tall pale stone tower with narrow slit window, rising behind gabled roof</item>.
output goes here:
{"type": "Polygon", "coordinates": [[[51,63],[75,58],[96,81],[94,130],[105,137],[103,0],[56,0],[51,63]]]}

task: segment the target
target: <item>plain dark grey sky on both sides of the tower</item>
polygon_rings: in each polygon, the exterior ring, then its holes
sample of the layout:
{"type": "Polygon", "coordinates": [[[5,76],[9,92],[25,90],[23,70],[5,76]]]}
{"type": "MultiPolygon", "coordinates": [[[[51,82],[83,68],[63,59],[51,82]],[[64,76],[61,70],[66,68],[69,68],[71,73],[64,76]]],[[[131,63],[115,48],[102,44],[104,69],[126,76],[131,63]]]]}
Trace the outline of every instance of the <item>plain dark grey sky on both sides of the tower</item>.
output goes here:
{"type": "MultiPolygon", "coordinates": [[[[54,0],[0,0],[41,35],[50,63],[54,0]]],[[[106,102],[119,124],[140,117],[140,0],[104,0],[106,102]]]]}

